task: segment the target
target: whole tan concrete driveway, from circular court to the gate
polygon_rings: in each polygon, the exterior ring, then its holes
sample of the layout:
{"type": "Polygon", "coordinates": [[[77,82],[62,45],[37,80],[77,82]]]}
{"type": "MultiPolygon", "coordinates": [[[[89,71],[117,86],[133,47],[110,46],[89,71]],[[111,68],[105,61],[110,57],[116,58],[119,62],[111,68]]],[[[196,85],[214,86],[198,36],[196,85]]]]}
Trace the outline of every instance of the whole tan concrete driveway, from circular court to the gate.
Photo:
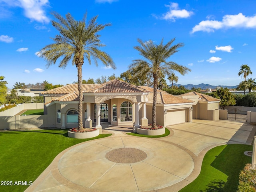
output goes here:
{"type": "Polygon", "coordinates": [[[168,129],[167,137],[142,138],[127,135],[132,128],[105,128],[103,133],[113,135],[64,150],[26,192],[175,192],[198,176],[208,150],[251,144],[255,134],[254,126],[226,120],[193,120],[168,129]]]}

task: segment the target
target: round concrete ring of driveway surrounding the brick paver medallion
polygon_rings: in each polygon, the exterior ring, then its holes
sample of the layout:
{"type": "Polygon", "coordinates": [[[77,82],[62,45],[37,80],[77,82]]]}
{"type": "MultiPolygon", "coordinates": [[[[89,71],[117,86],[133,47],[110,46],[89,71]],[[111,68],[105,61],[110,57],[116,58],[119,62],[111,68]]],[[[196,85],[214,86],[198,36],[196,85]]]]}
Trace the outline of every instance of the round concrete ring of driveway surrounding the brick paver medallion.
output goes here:
{"type": "Polygon", "coordinates": [[[117,136],[94,140],[66,152],[58,162],[60,174],[95,191],[136,192],[164,188],[184,180],[193,170],[192,157],[169,142],[150,138],[117,136]],[[136,163],[116,163],[106,154],[134,148],[146,153],[136,163]]]}

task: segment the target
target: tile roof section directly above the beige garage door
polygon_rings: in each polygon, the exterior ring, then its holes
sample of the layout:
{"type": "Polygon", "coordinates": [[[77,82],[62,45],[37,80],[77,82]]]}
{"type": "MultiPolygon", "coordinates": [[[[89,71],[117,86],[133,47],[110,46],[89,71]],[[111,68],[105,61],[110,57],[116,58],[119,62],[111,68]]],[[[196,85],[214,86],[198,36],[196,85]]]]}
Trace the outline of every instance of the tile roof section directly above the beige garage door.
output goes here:
{"type": "MultiPolygon", "coordinates": [[[[154,93],[150,92],[148,94],[148,103],[153,103],[154,93]]],[[[182,104],[182,103],[193,103],[194,101],[189,99],[184,99],[166,92],[157,92],[156,103],[157,104],[182,104]]]]}

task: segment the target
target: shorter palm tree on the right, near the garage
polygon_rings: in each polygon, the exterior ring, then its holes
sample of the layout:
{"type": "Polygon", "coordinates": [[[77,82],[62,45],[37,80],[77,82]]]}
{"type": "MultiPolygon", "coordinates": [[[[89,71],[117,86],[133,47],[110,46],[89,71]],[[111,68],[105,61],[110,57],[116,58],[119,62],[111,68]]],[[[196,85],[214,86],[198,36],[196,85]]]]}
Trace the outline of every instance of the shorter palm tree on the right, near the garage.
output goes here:
{"type": "Polygon", "coordinates": [[[173,71],[178,71],[180,74],[184,75],[190,71],[189,68],[181,66],[173,61],[168,61],[170,56],[178,52],[178,48],[184,46],[183,43],[178,43],[172,46],[175,38],[163,44],[163,39],[160,44],[154,44],[152,40],[143,42],[138,39],[139,46],[135,46],[139,54],[143,59],[133,60],[129,68],[137,74],[137,76],[144,74],[151,74],[154,79],[154,96],[153,96],[153,106],[152,106],[152,128],[156,127],[156,92],[158,86],[158,80],[160,75],[170,75],[173,71]]]}

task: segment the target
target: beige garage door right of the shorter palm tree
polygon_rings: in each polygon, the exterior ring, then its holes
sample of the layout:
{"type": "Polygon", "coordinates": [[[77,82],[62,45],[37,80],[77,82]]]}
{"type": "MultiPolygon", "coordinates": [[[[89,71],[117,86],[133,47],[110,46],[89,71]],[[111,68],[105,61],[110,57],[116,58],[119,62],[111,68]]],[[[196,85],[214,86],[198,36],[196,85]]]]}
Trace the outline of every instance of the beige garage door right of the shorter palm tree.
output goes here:
{"type": "Polygon", "coordinates": [[[186,110],[167,110],[166,125],[186,122],[186,110]]]}

